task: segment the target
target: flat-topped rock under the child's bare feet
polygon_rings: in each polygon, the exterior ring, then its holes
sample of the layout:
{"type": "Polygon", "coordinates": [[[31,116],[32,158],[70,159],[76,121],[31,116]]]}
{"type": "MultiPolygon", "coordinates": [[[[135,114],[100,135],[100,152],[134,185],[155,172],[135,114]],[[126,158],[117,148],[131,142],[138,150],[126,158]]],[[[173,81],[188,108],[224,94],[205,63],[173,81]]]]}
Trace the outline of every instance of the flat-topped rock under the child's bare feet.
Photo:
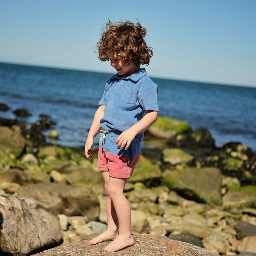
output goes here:
{"type": "MultiPolygon", "coordinates": [[[[149,234],[134,235],[135,245],[120,250],[118,252],[111,252],[113,256],[219,256],[215,252],[184,243],[182,241],[173,240],[169,238],[155,237],[149,234]]],[[[85,239],[76,243],[62,245],[53,249],[45,250],[35,254],[34,256],[104,256],[110,255],[104,252],[103,248],[109,242],[98,243],[97,245],[90,245],[89,239],[85,239]]]]}

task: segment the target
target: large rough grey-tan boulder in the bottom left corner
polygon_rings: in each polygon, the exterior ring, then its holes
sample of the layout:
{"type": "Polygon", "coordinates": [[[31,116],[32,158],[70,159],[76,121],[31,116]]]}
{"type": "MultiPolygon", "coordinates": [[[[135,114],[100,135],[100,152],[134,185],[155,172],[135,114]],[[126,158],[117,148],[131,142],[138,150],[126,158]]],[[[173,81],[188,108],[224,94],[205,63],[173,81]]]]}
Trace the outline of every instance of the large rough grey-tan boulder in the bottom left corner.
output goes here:
{"type": "Polygon", "coordinates": [[[0,196],[0,255],[25,256],[62,241],[55,215],[27,198],[0,196]]]}

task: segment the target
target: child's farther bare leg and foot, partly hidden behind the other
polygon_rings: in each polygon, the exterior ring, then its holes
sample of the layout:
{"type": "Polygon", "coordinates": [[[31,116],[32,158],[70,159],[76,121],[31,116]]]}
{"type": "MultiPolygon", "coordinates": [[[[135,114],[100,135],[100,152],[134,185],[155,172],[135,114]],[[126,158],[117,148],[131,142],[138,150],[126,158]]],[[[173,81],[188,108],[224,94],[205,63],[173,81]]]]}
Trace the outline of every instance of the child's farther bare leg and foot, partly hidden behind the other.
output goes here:
{"type": "Polygon", "coordinates": [[[112,241],[118,235],[117,215],[115,213],[115,208],[113,206],[113,203],[108,195],[108,180],[109,180],[108,171],[102,172],[102,176],[104,178],[105,190],[106,190],[106,213],[107,213],[108,227],[105,232],[96,236],[90,241],[91,245],[96,245],[97,243],[101,243],[103,241],[112,241]]]}

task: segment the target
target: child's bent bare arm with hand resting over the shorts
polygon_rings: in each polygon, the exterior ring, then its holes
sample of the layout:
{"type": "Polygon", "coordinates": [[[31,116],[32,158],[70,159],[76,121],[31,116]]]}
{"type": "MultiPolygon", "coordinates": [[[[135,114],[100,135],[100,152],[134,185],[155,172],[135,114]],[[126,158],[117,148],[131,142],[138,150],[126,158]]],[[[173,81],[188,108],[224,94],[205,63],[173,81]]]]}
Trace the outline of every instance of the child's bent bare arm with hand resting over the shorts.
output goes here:
{"type": "Polygon", "coordinates": [[[153,110],[147,110],[146,115],[136,124],[131,126],[129,129],[122,132],[117,137],[117,147],[120,149],[127,150],[131,144],[131,142],[134,140],[135,136],[137,134],[140,134],[141,132],[144,132],[147,130],[154,122],[156,122],[156,119],[158,117],[158,112],[153,110]]]}

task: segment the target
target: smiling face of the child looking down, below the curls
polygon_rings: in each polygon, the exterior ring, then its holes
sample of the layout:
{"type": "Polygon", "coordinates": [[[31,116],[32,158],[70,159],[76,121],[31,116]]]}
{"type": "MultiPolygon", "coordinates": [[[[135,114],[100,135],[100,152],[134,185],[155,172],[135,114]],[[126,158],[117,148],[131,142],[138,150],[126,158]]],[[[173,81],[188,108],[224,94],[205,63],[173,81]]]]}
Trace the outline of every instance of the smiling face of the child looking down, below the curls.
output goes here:
{"type": "Polygon", "coordinates": [[[108,58],[110,59],[110,65],[122,77],[130,76],[139,70],[139,67],[136,67],[133,62],[126,64],[122,58],[115,57],[113,54],[109,54],[108,58]]]}

